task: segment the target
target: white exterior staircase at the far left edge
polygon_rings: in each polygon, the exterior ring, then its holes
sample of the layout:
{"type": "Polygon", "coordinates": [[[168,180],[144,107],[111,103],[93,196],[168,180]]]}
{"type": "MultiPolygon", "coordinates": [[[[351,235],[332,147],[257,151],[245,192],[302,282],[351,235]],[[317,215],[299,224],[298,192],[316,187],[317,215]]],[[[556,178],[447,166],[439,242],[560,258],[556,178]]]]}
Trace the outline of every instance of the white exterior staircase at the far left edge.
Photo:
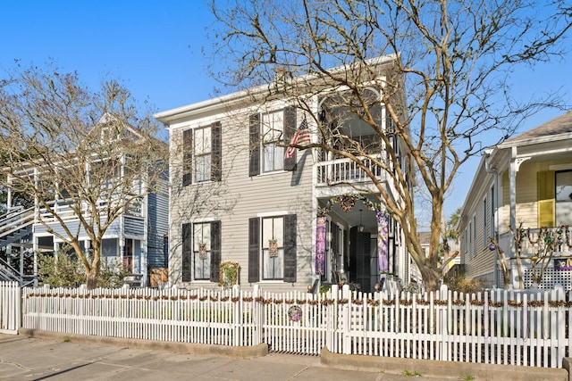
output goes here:
{"type": "MultiPolygon", "coordinates": [[[[31,247],[32,224],[34,223],[34,208],[20,208],[0,216],[0,249],[9,244],[20,247],[31,247]]],[[[8,262],[0,259],[0,281],[15,281],[20,286],[33,282],[33,276],[21,274],[8,262]]]]}

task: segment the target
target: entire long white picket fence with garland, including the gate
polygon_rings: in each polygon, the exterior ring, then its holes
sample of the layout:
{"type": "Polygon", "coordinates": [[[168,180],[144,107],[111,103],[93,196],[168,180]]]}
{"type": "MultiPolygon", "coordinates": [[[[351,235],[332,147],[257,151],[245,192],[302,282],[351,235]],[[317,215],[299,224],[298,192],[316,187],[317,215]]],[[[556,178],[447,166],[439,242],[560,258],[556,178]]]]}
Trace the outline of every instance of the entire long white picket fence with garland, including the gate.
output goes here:
{"type": "Polygon", "coordinates": [[[572,294],[327,294],[24,288],[22,325],[81,335],[256,345],[273,352],[559,368],[572,294]]]}

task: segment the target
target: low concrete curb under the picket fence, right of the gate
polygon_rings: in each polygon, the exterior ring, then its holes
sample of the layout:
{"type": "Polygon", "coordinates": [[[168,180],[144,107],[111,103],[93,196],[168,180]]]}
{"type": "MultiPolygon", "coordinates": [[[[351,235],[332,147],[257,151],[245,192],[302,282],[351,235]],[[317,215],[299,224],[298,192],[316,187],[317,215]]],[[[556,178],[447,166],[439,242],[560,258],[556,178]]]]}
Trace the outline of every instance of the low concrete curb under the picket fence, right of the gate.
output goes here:
{"type": "Polygon", "coordinates": [[[568,381],[566,369],[517,367],[512,365],[474,364],[440,360],[409,360],[381,356],[336,354],[323,348],[322,364],[333,368],[368,369],[403,375],[418,372],[421,377],[503,381],[568,381]]]}

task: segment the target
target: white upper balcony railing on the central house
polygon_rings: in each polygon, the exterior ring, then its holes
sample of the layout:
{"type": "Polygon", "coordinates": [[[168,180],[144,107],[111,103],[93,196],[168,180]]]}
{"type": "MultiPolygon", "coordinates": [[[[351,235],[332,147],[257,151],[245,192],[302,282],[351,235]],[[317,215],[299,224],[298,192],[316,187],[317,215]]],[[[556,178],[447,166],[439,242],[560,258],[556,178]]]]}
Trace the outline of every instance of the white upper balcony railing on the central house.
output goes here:
{"type": "MultiPolygon", "coordinates": [[[[374,158],[361,158],[366,168],[374,173],[375,178],[383,177],[381,167],[375,165],[374,158]]],[[[380,160],[380,158],[375,158],[380,160]]],[[[357,166],[356,162],[349,159],[337,159],[329,162],[318,162],[317,185],[330,186],[340,183],[363,183],[371,181],[366,172],[357,166]]]]}

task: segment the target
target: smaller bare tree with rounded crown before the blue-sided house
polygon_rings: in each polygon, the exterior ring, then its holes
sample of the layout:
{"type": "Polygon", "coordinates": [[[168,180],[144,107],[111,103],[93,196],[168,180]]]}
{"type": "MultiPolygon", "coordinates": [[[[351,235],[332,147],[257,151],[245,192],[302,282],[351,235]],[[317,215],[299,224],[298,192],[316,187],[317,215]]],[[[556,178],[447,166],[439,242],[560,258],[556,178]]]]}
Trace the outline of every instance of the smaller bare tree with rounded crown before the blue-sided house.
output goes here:
{"type": "Polygon", "coordinates": [[[50,64],[17,68],[0,82],[2,186],[33,197],[38,222],[71,246],[89,288],[107,229],[166,186],[167,145],[157,131],[114,80],[92,93],[77,73],[50,64]]]}

